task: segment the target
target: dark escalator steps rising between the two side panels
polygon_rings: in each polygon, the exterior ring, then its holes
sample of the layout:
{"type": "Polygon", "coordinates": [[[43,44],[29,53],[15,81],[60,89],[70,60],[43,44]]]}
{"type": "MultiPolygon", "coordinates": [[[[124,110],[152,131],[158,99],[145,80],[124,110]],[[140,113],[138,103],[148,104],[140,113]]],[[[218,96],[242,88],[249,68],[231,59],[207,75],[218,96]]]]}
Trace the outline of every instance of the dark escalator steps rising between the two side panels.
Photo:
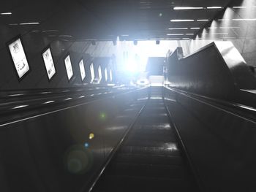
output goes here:
{"type": "Polygon", "coordinates": [[[92,191],[200,191],[154,92],[92,191]]]}

